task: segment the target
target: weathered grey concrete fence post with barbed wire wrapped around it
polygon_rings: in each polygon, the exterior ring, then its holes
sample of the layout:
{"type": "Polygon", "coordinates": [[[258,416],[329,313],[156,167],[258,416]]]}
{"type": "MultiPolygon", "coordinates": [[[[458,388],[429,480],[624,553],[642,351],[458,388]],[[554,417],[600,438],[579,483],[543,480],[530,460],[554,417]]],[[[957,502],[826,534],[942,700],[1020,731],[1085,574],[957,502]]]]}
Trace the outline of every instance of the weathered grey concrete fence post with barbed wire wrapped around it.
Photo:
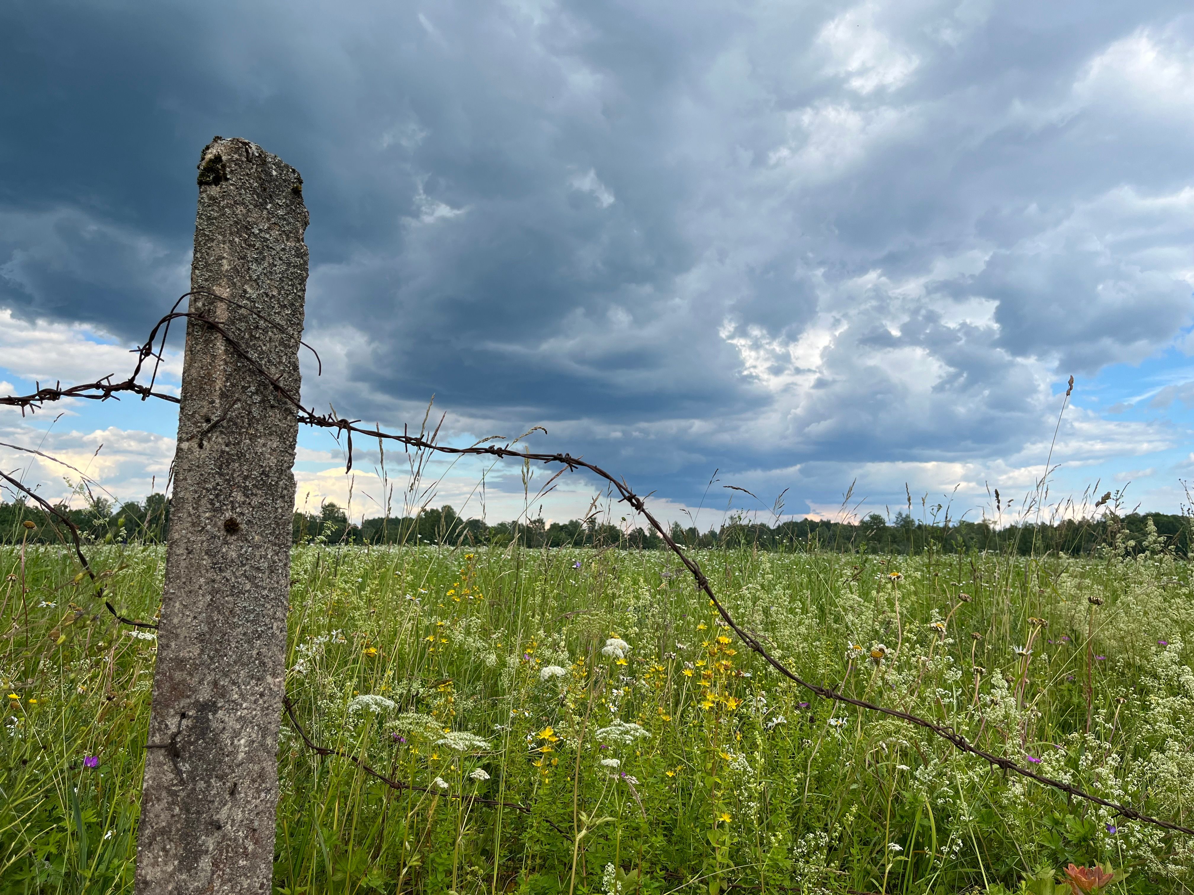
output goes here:
{"type": "MultiPolygon", "coordinates": [[[[216,137],[198,183],[191,289],[220,297],[196,295],[190,308],[224,321],[297,395],[302,178],[253,143],[216,137]]],[[[143,895],[271,889],[296,437],[285,400],[189,320],[137,842],[143,895]]]]}

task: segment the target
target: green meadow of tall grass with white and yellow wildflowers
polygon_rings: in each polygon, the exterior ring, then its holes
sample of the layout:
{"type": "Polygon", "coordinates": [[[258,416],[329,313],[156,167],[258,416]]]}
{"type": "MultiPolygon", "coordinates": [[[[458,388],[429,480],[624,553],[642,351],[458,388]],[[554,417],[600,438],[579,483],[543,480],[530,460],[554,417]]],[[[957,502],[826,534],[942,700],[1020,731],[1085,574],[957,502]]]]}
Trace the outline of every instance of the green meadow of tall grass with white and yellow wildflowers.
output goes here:
{"type": "MultiPolygon", "coordinates": [[[[694,551],[808,680],[1194,819],[1194,600],[1095,560],[694,551]]],[[[160,548],[96,547],[152,617],[160,548]]],[[[55,548],[0,551],[0,891],[131,891],[155,641],[55,548]]],[[[1002,893],[1071,862],[1187,891],[1194,838],[812,697],[663,551],[296,548],[275,891],[1002,893]]],[[[1058,885],[1058,891],[1069,888],[1058,885]]]]}

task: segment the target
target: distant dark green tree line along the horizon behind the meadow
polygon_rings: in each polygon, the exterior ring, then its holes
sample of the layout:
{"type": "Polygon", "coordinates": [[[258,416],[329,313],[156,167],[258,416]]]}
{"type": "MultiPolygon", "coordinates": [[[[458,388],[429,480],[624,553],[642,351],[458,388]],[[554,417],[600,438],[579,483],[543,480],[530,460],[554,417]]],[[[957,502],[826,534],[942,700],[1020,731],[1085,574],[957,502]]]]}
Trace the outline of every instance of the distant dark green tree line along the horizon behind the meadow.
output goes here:
{"type": "MultiPolygon", "coordinates": [[[[64,513],[92,542],[165,542],[170,526],[170,499],[150,494],[142,502],[113,506],[96,498],[85,508],[64,513]]],[[[59,526],[61,527],[61,526],[59,526]]],[[[642,527],[617,526],[590,518],[547,524],[542,518],[488,525],[481,519],[462,519],[450,506],[426,508],[414,517],[373,518],[350,523],[345,511],[328,501],[319,513],[294,514],[294,541],[322,544],[464,544],[505,547],[614,547],[658,550],[663,538],[642,527]]],[[[1162,544],[1181,556],[1190,551],[1192,519],[1171,513],[1107,512],[1098,519],[1066,519],[1050,524],[996,526],[990,521],[929,523],[907,513],[888,521],[878,513],[858,521],[838,523],[799,519],[768,525],[745,517],[733,517],[718,529],[700,532],[695,526],[673,523],[671,537],[689,549],[747,547],[758,550],[837,550],[878,554],[959,553],[993,550],[1021,555],[1064,553],[1084,555],[1098,547],[1119,544],[1127,551],[1162,544]],[[1151,526],[1151,527],[1150,527],[1151,526]],[[1151,539],[1151,541],[1150,541],[1151,539]]],[[[21,501],[0,504],[0,542],[59,543],[69,539],[64,531],[47,524],[45,514],[21,501]],[[29,519],[33,529],[23,523],[29,519]]]]}

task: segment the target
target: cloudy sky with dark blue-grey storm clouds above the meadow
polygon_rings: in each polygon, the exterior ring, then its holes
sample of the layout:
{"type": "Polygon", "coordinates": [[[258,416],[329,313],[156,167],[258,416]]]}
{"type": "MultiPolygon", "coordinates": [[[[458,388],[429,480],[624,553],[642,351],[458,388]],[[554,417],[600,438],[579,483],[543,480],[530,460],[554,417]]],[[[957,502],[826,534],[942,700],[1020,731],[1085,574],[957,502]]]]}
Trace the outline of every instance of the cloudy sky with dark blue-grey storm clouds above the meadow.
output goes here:
{"type": "MultiPolygon", "coordinates": [[[[308,403],[401,426],[435,394],[454,442],[542,425],[672,516],[716,469],[716,508],[732,483],[833,513],[856,480],[862,511],[956,487],[974,518],[1032,489],[1073,375],[1053,499],[1184,499],[1188,0],[14,0],[0,79],[17,390],[128,366],[186,289],[219,134],[303,175],[308,403]]],[[[0,415],[129,498],[174,426],[0,415]]],[[[300,502],[343,502],[334,443],[301,445],[300,502]]],[[[487,488],[492,520],[522,482],[487,488]]]]}

